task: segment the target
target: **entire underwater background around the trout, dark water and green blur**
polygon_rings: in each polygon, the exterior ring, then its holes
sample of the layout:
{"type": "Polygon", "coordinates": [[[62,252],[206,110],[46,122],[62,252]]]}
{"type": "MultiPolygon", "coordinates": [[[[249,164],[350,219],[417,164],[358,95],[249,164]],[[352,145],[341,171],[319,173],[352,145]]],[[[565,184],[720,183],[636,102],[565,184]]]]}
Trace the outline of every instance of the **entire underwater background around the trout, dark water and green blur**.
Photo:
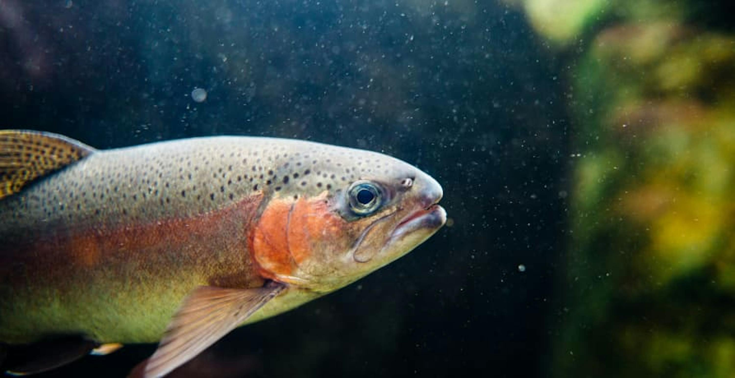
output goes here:
{"type": "MultiPolygon", "coordinates": [[[[414,252],[173,377],[734,377],[732,11],[0,0],[1,127],[310,139],[442,183],[448,225],[414,252]]],[[[125,377],[154,348],[37,377],[125,377]]]]}

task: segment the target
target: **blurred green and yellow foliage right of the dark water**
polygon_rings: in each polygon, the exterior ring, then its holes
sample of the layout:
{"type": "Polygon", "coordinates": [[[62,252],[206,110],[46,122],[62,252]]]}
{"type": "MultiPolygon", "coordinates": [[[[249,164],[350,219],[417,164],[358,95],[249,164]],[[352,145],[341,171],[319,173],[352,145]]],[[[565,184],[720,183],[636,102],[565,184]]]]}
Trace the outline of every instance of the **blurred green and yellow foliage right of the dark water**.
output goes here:
{"type": "Polygon", "coordinates": [[[717,1],[509,2],[570,60],[552,375],[735,377],[735,34],[700,22],[717,1]]]}

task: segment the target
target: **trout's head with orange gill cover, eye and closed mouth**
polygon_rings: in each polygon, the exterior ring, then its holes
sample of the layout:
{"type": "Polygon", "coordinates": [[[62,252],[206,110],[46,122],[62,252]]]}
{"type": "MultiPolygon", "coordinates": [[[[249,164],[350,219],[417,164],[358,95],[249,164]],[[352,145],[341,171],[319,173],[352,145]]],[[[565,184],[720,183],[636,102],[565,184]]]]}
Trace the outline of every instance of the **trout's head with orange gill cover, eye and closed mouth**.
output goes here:
{"type": "MultiPolygon", "coordinates": [[[[430,175],[380,153],[320,146],[326,156],[301,153],[309,157],[296,164],[295,185],[279,186],[259,217],[251,239],[264,277],[334,291],[410,252],[446,222],[437,204],[442,186],[430,175]]],[[[294,181],[293,171],[279,173],[294,181]]]]}

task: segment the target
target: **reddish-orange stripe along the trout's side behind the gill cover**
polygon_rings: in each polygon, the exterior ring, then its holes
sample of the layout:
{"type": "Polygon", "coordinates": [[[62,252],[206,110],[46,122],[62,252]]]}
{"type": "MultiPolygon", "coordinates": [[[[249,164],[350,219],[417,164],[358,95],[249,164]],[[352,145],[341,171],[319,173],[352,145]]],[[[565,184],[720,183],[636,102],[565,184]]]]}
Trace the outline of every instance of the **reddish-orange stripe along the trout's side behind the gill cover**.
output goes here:
{"type": "Polygon", "coordinates": [[[261,200],[258,193],[192,217],[51,230],[0,247],[0,277],[11,285],[71,290],[96,280],[112,285],[187,269],[211,285],[250,287],[262,280],[246,254],[248,230],[261,200]]]}

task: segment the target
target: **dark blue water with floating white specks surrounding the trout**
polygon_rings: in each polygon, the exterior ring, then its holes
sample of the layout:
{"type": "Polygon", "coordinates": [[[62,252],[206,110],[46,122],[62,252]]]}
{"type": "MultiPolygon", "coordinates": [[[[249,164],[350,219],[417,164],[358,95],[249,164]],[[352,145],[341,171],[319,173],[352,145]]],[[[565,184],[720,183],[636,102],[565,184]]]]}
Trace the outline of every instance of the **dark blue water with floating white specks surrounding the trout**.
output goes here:
{"type": "MultiPolygon", "coordinates": [[[[312,139],[389,153],[442,183],[451,225],[359,283],[232,332],[190,376],[547,375],[561,311],[567,86],[516,10],[3,0],[0,12],[3,128],[96,148],[312,139]]],[[[126,346],[40,377],[124,377],[153,350],[126,346]]]]}

